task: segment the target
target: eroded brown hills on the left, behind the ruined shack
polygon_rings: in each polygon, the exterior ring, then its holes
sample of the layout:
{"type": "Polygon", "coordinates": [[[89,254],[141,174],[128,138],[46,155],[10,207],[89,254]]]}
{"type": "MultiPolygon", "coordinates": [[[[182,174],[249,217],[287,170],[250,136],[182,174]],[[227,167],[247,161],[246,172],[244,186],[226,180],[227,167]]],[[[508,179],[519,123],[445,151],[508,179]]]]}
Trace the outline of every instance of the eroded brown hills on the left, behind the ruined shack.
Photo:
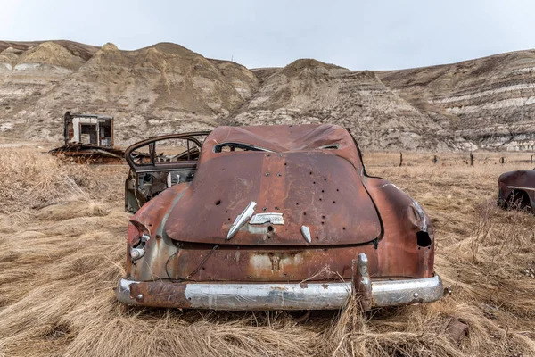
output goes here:
{"type": "Polygon", "coordinates": [[[85,61],[45,42],[23,52],[7,47],[3,58],[10,62],[0,63],[0,125],[26,139],[61,138],[68,109],[115,116],[119,145],[209,129],[258,87],[243,66],[210,61],[175,44],[136,51],[106,44],[85,61]]]}

